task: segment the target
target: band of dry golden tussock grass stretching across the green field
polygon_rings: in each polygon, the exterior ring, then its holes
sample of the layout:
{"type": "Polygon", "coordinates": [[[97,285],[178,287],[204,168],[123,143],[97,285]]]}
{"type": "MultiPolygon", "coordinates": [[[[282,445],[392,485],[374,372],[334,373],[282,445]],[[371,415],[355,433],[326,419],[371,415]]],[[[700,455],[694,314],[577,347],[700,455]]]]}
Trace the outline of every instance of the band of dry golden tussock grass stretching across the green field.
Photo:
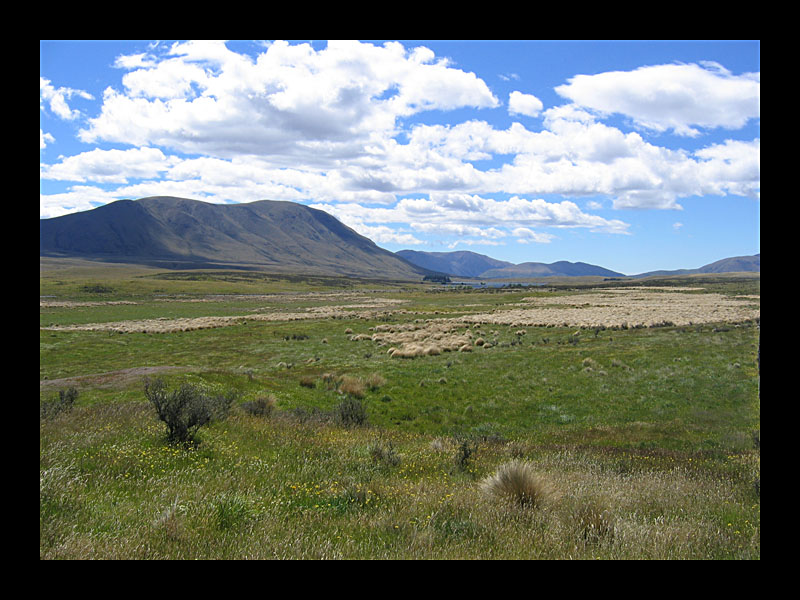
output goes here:
{"type": "MultiPolygon", "coordinates": [[[[255,311],[248,315],[195,318],[160,318],[108,323],[50,326],[42,329],[67,331],[113,331],[118,333],[170,333],[238,325],[245,321],[299,321],[308,319],[375,319],[387,314],[386,308],[402,300],[369,298],[353,304],[310,307],[302,311],[255,311]],[[363,310],[372,309],[372,310],[363,310]]],[[[399,357],[422,356],[459,350],[472,343],[471,333],[459,333],[465,326],[478,324],[564,327],[650,327],[664,323],[677,326],[703,323],[738,323],[760,316],[758,296],[726,296],[692,293],[691,288],[664,291],[661,288],[603,289],[600,292],[566,296],[527,297],[492,312],[473,313],[455,318],[429,319],[404,325],[378,325],[373,334],[356,334],[353,340],[372,340],[401,350],[399,357]],[[676,291],[678,290],[678,291],[676,291]],[[410,348],[417,344],[415,348],[410,348]],[[409,346],[402,348],[402,346],[409,346]],[[425,350],[427,349],[427,350],[425,350]]],[[[395,314],[406,313],[394,310],[395,314]]],[[[348,328],[346,331],[352,334],[348,328]]],[[[519,329],[516,335],[524,335],[519,329]]]]}

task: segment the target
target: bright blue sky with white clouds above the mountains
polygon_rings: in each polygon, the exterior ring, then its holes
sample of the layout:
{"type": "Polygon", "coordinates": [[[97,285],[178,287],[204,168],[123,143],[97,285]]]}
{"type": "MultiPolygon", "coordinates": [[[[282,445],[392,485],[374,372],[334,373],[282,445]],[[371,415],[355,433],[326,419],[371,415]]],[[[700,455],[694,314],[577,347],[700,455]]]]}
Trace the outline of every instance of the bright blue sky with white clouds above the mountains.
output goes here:
{"type": "Polygon", "coordinates": [[[290,200],[392,251],[760,252],[759,41],[40,41],[40,218],[290,200]]]}

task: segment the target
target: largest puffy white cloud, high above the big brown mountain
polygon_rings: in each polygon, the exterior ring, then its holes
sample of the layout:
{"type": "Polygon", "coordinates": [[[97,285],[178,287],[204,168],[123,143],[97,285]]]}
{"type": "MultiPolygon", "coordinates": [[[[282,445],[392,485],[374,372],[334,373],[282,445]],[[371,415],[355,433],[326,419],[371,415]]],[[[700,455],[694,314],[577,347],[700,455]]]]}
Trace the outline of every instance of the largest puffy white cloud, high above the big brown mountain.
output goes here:
{"type": "Polygon", "coordinates": [[[329,164],[365,155],[399,117],[498,105],[474,73],[399,43],[334,41],[316,51],[275,42],[253,60],[204,41],[175,44],[168,56],[152,66],[140,55],[119,59],[135,68],[124,90],[105,91],[81,139],[329,164]]]}

